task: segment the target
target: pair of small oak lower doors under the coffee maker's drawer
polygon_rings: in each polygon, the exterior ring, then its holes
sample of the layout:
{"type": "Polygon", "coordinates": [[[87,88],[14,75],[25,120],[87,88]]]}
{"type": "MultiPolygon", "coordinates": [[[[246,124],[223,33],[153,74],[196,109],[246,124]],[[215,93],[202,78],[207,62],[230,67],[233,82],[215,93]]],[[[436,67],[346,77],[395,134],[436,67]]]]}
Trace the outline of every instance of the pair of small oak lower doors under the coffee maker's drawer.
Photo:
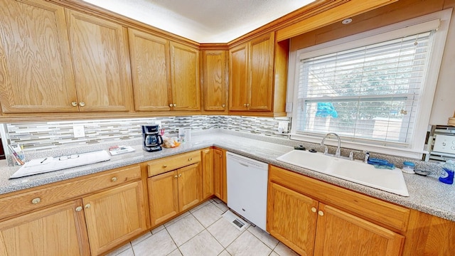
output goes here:
{"type": "Polygon", "coordinates": [[[164,223],[202,201],[200,163],[148,178],[151,225],[164,223]]]}

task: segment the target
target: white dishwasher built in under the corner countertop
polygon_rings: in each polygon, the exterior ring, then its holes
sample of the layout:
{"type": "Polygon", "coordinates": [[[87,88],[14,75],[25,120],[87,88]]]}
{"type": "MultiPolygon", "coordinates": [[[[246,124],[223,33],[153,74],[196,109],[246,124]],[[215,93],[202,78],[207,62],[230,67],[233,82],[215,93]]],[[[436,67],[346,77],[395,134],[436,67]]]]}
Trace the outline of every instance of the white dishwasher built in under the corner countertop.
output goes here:
{"type": "Polygon", "coordinates": [[[268,165],[226,152],[228,207],[265,230],[268,165]]]}

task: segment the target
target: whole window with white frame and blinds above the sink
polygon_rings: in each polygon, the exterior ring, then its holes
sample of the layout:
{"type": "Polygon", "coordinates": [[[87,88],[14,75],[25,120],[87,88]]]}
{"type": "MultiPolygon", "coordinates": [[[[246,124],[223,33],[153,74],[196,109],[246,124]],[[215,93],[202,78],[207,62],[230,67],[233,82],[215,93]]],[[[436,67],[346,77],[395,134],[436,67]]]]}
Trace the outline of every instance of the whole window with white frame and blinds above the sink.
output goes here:
{"type": "Polygon", "coordinates": [[[427,131],[439,73],[439,24],[438,18],[390,26],[381,28],[389,30],[385,33],[370,31],[299,50],[291,138],[320,142],[335,132],[343,142],[372,151],[422,153],[424,143],[416,138],[424,139],[427,131]]]}

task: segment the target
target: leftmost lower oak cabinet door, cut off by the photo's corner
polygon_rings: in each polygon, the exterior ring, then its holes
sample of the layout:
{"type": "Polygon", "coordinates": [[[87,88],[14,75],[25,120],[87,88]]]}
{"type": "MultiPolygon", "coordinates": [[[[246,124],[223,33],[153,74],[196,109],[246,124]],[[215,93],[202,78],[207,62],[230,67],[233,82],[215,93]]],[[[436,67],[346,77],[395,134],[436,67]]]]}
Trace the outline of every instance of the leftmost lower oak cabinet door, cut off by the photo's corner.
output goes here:
{"type": "Polygon", "coordinates": [[[0,255],[90,255],[82,201],[1,222],[0,255]]]}

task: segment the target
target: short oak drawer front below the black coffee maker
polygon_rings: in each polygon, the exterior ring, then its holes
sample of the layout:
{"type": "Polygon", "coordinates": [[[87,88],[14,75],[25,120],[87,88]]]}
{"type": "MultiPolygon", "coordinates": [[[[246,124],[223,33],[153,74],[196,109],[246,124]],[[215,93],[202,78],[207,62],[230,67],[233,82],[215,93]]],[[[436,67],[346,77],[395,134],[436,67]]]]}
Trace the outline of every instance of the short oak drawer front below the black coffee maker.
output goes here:
{"type": "Polygon", "coordinates": [[[164,174],[166,171],[175,170],[198,162],[200,162],[200,151],[193,151],[176,156],[168,156],[164,159],[151,161],[148,164],[149,177],[157,174],[164,174]]]}

